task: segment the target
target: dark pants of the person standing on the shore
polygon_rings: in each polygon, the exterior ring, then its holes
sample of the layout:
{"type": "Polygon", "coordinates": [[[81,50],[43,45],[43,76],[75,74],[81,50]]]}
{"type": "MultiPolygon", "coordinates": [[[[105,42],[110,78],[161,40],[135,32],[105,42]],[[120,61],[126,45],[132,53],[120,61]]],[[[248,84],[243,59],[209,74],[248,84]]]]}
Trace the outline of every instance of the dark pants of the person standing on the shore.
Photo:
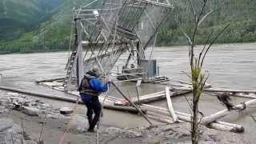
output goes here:
{"type": "Polygon", "coordinates": [[[90,125],[89,129],[94,130],[94,126],[97,124],[99,117],[101,116],[102,104],[98,101],[98,97],[93,97],[90,102],[85,102],[85,104],[87,107],[86,115],[90,125]]]}

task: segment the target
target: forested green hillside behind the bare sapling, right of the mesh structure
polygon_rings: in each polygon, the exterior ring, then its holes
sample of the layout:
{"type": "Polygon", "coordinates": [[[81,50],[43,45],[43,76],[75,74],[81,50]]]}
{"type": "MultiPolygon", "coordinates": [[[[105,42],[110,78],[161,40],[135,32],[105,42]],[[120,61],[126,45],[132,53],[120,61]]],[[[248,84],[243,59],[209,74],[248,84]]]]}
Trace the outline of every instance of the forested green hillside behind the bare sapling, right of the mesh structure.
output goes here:
{"type": "MultiPolygon", "coordinates": [[[[200,3],[196,0],[194,5],[200,3]]],[[[256,1],[255,0],[212,0],[206,9],[212,13],[199,27],[198,42],[202,43],[211,32],[218,32],[230,23],[218,43],[256,42],[256,1]]],[[[158,35],[158,45],[186,45],[182,30],[188,32],[193,15],[187,0],[174,1],[174,12],[167,18],[166,25],[158,35]]]]}

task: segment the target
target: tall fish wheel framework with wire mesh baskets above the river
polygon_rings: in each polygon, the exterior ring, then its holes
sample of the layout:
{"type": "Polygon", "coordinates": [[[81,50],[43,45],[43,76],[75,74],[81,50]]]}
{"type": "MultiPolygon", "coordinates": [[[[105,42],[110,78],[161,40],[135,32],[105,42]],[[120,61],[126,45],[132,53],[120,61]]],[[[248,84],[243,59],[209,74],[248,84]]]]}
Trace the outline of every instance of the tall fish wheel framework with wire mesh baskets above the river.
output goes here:
{"type": "Polygon", "coordinates": [[[74,34],[70,35],[70,47],[74,43],[74,48],[67,63],[66,91],[71,90],[72,85],[78,86],[83,74],[94,66],[102,70],[103,75],[110,74],[115,62],[126,51],[139,68],[139,58],[145,58],[144,50],[154,44],[152,38],[166,17],[161,11],[173,8],[168,0],[100,2],[94,0],[73,10],[74,34]],[[83,50],[86,50],[85,54],[83,50]]]}

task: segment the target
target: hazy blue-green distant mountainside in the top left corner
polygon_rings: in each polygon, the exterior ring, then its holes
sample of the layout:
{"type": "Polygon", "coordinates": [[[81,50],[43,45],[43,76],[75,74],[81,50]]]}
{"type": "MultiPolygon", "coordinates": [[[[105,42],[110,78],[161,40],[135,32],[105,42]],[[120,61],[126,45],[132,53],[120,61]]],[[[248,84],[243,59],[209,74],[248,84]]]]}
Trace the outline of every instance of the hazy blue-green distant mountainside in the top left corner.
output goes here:
{"type": "Polygon", "coordinates": [[[38,26],[63,0],[0,0],[0,39],[16,39],[38,26]]]}

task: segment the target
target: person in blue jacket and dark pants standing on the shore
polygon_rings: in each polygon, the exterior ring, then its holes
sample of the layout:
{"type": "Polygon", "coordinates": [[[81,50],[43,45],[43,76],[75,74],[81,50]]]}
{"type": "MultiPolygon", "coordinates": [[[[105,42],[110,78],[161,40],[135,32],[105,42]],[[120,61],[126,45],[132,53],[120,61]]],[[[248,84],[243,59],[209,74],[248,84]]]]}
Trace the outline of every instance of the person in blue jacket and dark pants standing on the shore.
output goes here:
{"type": "Polygon", "coordinates": [[[97,68],[89,70],[82,79],[78,89],[82,102],[85,102],[87,107],[86,115],[89,122],[89,129],[87,131],[89,132],[94,132],[94,126],[98,123],[102,113],[102,105],[98,101],[98,96],[108,90],[108,82],[101,82],[99,79],[100,75],[97,68]]]}

